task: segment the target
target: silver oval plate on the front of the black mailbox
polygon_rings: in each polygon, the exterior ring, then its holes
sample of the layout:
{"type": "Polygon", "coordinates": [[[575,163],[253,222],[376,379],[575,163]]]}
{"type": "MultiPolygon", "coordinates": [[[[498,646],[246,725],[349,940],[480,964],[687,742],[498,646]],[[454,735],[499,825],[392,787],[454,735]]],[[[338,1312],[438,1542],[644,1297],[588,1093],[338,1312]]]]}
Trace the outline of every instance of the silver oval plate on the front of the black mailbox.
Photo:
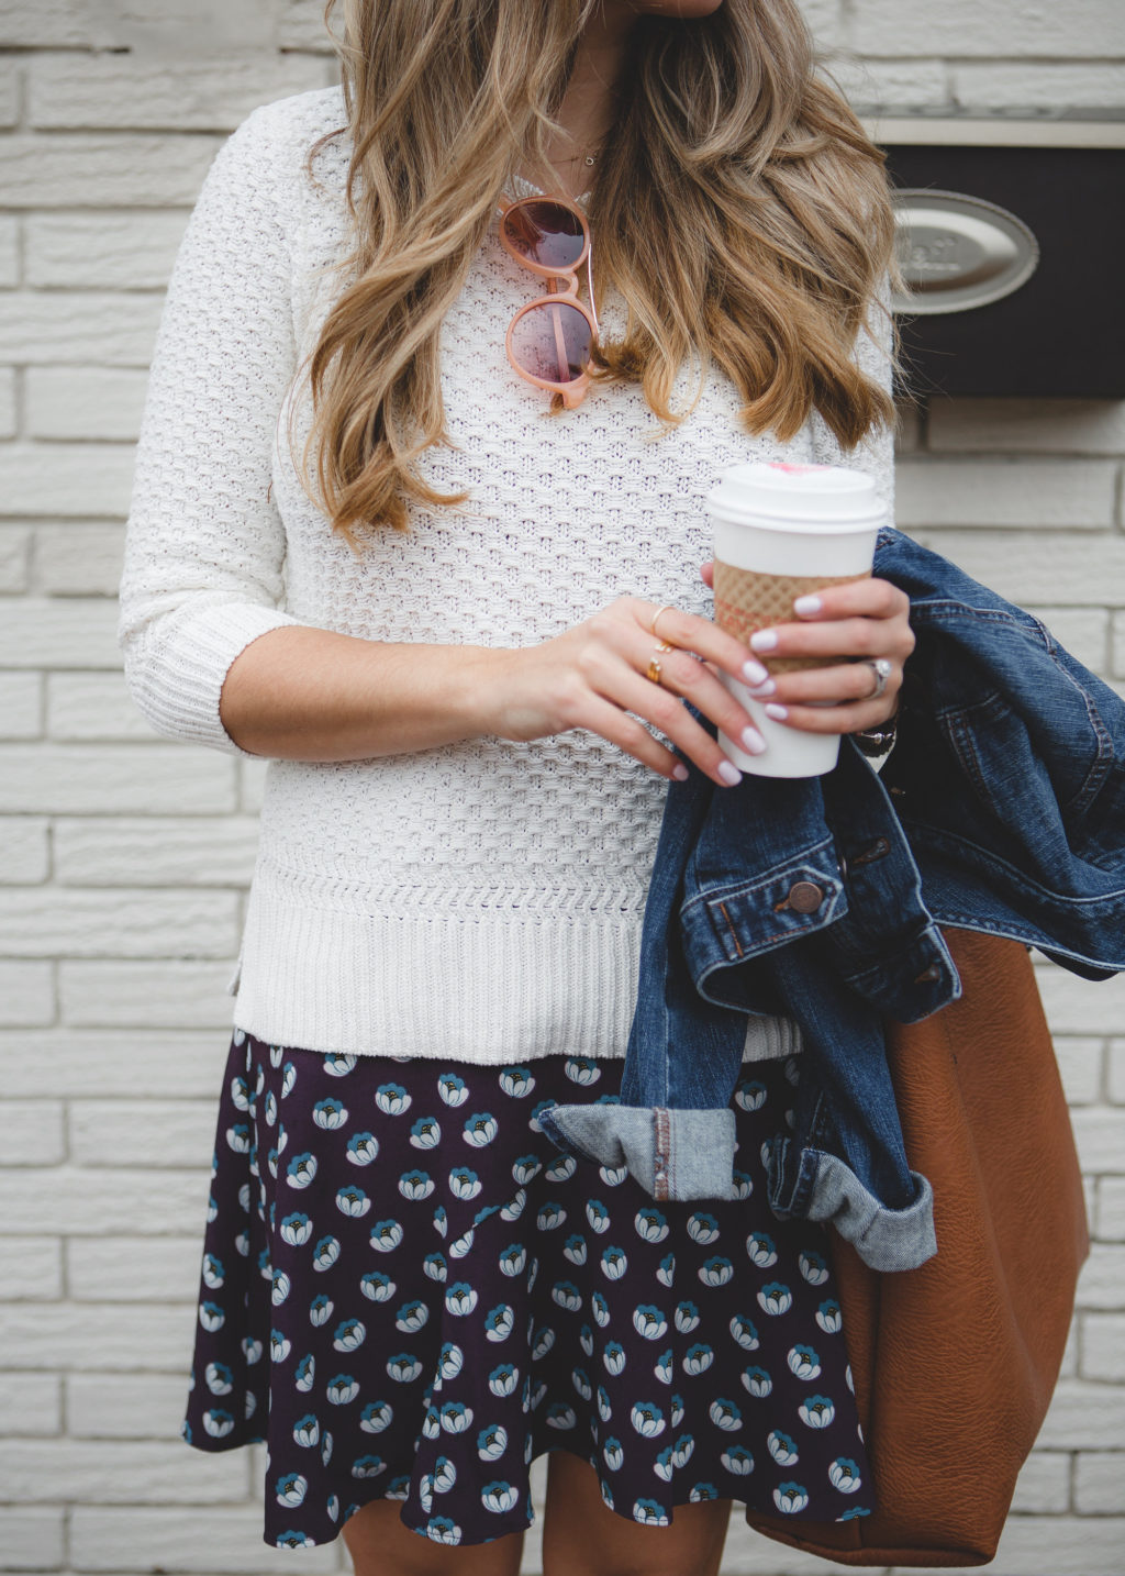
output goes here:
{"type": "Polygon", "coordinates": [[[893,197],[906,285],[895,292],[895,312],[967,312],[1002,301],[1038,268],[1038,241],[1007,208],[930,188],[900,188],[893,197]]]}

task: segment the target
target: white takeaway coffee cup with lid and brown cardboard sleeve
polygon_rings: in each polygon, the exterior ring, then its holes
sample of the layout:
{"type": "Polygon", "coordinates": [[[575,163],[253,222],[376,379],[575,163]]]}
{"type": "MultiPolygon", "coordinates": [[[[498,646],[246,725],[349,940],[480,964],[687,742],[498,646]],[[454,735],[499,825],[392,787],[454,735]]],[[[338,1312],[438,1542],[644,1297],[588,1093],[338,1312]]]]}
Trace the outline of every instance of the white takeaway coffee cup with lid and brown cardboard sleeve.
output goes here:
{"type": "MultiPolygon", "coordinates": [[[[715,530],[715,621],[748,645],[770,624],[791,623],[794,599],[871,574],[884,519],[874,482],[834,465],[736,465],[707,495],[715,530]]],[[[772,675],[830,667],[838,657],[761,662],[772,675]]],[[[756,777],[818,777],[840,755],[838,733],[805,733],[774,722],[744,684],[722,675],[766,739],[763,755],[720,731],[726,756],[756,777]]]]}

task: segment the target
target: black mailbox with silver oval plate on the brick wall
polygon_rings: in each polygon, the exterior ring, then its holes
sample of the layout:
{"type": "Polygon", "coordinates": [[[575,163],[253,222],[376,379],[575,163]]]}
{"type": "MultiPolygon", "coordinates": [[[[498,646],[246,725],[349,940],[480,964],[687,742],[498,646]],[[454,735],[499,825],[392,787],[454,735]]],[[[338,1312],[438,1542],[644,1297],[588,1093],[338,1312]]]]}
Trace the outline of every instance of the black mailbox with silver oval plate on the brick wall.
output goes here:
{"type": "Polygon", "coordinates": [[[1125,121],[884,120],[911,392],[1125,397],[1125,121]]]}

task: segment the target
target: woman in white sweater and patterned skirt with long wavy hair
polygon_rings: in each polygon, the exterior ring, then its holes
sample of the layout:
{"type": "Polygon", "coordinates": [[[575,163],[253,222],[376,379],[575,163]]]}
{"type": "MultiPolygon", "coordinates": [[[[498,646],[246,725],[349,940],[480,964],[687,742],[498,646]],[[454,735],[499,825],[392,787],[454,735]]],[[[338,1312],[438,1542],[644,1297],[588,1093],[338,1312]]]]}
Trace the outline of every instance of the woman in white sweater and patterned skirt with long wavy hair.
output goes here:
{"type": "Polygon", "coordinates": [[[893,714],[895,588],[780,624],[840,660],[772,681],[700,583],[739,459],[890,503],[879,156],[793,0],[345,0],[340,54],[208,175],[129,520],[137,701],[271,761],[184,1433],[266,1439],[266,1541],[359,1576],[515,1571],[544,1451],[551,1576],[714,1573],[734,1497],[871,1504],[824,1239],[759,1185],[788,1024],[736,1204],[654,1210],[536,1110],[613,1098],[678,752],[737,780],[682,701],[752,752],[718,670],[796,728],[893,714]],[[544,284],[501,210],[547,188],[594,238],[585,399],[504,348],[544,284]]]}

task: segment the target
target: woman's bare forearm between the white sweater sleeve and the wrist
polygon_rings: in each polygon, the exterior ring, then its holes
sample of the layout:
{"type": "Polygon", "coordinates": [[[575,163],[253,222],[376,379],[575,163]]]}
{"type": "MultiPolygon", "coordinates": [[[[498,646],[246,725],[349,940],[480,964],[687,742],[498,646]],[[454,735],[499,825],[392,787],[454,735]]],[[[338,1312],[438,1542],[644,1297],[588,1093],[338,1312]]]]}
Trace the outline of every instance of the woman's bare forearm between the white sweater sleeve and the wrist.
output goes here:
{"type": "Polygon", "coordinates": [[[219,716],[252,755],[355,761],[492,733],[485,646],[389,645],[271,629],[227,671],[219,716]]]}

